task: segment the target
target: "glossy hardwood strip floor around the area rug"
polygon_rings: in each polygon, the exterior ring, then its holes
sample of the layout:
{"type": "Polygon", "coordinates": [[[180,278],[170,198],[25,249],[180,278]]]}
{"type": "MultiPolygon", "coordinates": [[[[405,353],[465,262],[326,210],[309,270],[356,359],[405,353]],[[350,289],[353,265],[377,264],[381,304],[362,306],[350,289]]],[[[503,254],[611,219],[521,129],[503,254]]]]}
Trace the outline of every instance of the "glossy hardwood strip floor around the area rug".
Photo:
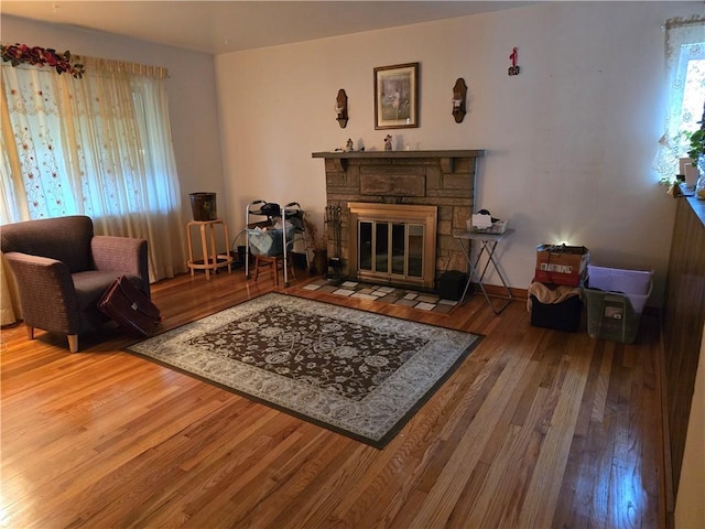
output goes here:
{"type": "MultiPolygon", "coordinates": [[[[486,337],[377,450],[123,353],[113,328],[77,354],[3,328],[0,527],[664,526],[658,317],[622,345],[532,327],[522,301],[426,314],[308,279],[281,291],[486,337]]],[[[272,287],[185,274],[153,299],[173,328],[272,287]]]]}

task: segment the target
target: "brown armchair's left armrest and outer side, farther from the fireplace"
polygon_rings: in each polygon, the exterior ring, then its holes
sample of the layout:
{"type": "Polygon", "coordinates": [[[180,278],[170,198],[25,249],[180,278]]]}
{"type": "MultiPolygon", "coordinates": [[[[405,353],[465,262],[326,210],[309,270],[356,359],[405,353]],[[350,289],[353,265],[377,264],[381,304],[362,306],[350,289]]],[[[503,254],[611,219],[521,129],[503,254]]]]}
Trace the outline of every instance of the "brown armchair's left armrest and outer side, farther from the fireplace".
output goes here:
{"type": "Polygon", "coordinates": [[[68,267],[47,257],[4,255],[18,282],[24,322],[45,331],[77,334],[78,296],[68,267]]]}

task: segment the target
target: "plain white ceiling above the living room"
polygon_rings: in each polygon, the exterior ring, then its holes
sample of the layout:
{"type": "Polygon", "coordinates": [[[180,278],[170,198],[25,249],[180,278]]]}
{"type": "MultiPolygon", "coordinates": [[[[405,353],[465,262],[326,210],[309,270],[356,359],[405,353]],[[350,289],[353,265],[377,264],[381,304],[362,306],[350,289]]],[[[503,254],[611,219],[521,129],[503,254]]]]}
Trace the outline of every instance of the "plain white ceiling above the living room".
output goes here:
{"type": "Polygon", "coordinates": [[[0,12],[220,54],[532,3],[536,2],[2,0],[0,12]]]}

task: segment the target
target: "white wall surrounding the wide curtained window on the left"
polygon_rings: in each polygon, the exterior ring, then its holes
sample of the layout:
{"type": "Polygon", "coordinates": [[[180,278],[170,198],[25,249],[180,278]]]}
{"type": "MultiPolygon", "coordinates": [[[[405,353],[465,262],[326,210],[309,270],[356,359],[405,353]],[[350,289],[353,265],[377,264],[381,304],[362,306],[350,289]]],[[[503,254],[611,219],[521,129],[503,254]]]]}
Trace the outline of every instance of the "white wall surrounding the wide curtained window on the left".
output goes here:
{"type": "MultiPolygon", "coordinates": [[[[145,43],[107,33],[62,28],[2,15],[2,43],[53,47],[76,55],[131,61],[169,68],[167,93],[174,155],[181,183],[182,226],[192,219],[188,194],[215,192],[227,210],[212,55],[145,43]]],[[[185,262],[184,262],[185,266],[185,262]]]]}

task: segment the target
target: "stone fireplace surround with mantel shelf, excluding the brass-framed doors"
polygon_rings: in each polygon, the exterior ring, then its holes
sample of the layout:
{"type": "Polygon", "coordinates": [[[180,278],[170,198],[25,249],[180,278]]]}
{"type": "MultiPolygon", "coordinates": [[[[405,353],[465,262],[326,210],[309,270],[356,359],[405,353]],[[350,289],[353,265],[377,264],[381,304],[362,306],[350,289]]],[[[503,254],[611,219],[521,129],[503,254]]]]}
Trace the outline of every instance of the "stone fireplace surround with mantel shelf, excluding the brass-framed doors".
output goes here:
{"type": "MultiPolygon", "coordinates": [[[[325,159],[328,206],[340,207],[340,257],[350,273],[349,203],[437,206],[435,276],[467,271],[465,256],[453,238],[464,229],[475,206],[477,158],[482,150],[314,152],[325,159]]],[[[328,257],[335,256],[333,227],[327,226],[328,257]]]]}

